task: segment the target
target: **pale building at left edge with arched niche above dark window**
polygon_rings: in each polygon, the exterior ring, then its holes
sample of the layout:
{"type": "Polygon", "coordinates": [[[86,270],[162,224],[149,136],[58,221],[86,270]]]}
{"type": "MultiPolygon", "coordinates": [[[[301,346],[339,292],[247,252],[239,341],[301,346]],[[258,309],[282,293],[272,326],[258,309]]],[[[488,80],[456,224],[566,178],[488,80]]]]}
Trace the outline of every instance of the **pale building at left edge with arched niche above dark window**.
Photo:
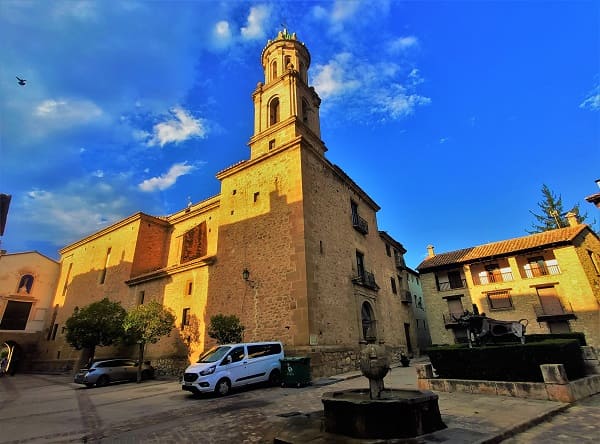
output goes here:
{"type": "Polygon", "coordinates": [[[59,264],[37,251],[6,254],[0,251],[0,355],[14,358],[21,353],[37,356],[40,339],[56,335],[45,329],[59,264]],[[14,353],[14,354],[13,354],[14,353]]]}

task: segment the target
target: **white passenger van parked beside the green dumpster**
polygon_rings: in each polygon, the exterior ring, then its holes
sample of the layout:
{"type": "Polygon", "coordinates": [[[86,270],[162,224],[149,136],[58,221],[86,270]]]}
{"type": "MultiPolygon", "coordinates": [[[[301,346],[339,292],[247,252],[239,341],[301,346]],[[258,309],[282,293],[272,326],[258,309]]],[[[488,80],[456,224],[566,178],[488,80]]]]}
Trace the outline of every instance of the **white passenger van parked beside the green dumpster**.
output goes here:
{"type": "Polygon", "coordinates": [[[185,370],[181,389],[224,396],[232,387],[246,384],[268,381],[276,385],[281,381],[283,358],[281,342],[218,345],[185,370]]]}

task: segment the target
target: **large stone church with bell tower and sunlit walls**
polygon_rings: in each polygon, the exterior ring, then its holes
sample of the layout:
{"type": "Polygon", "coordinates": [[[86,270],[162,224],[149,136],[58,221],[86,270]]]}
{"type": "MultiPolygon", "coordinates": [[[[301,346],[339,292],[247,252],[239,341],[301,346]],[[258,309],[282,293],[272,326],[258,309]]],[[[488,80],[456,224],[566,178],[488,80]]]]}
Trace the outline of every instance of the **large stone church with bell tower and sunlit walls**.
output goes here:
{"type": "MultiPolygon", "coordinates": [[[[361,344],[417,354],[402,245],[377,226],[377,203],[325,157],[310,54],[280,32],[262,51],[250,158],[220,171],[217,196],[166,217],[134,214],[60,251],[61,273],[38,367],[77,366],[64,340],[76,307],[108,297],[156,300],[177,325],[147,348],[178,372],[214,345],[210,318],[236,315],[244,341],[280,340],[313,376],[356,367],[361,344]]],[[[98,348],[97,357],[127,353],[98,348]]]]}

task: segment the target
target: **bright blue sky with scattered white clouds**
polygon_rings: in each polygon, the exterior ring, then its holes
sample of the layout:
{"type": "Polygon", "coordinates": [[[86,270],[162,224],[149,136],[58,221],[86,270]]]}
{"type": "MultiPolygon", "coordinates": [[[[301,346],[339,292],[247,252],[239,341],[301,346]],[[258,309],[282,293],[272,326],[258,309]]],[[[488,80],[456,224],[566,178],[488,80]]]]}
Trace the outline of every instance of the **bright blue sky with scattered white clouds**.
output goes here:
{"type": "Polygon", "coordinates": [[[0,0],[1,248],[58,258],[218,194],[282,23],[311,52],[327,157],[409,266],[527,234],[542,184],[598,220],[599,19],[597,1],[0,0]]]}

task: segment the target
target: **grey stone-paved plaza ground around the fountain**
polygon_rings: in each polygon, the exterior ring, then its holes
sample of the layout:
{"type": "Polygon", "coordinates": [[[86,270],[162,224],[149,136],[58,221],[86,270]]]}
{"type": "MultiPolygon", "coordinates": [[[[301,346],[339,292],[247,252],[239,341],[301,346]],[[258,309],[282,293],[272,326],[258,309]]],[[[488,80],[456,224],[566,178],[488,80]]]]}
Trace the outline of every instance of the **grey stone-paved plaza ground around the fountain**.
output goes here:
{"type": "MultiPolygon", "coordinates": [[[[291,442],[359,442],[319,434],[324,392],[366,388],[366,379],[352,376],[303,388],[255,387],[224,398],[195,397],[166,379],[86,389],[66,376],[0,378],[0,443],[273,443],[309,423],[319,438],[291,442]]],[[[386,387],[415,386],[414,368],[394,368],[386,377],[386,387]]],[[[600,394],[571,406],[438,395],[448,429],[419,443],[500,442],[501,436],[511,436],[507,443],[595,442],[600,436],[600,394]],[[530,428],[533,423],[539,424],[530,428]],[[522,432],[514,435],[515,430],[522,432]]]]}

